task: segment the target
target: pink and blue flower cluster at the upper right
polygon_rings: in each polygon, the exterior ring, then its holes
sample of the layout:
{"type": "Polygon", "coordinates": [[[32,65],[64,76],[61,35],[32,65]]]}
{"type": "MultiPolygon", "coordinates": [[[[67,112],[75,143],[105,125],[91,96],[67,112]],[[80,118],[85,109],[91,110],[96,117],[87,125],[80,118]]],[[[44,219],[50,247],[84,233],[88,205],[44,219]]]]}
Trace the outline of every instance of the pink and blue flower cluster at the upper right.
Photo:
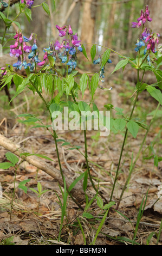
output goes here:
{"type": "MultiPolygon", "coordinates": [[[[137,19],[137,22],[132,22],[132,27],[133,28],[139,28],[142,24],[144,27],[144,24],[147,21],[152,21],[151,17],[150,17],[150,11],[148,10],[148,5],[146,5],[145,11],[141,10],[141,16],[137,19]]],[[[159,33],[152,33],[151,29],[147,29],[145,28],[144,31],[142,31],[142,34],[140,35],[140,38],[137,40],[137,47],[135,47],[135,51],[138,52],[139,49],[142,46],[145,46],[145,50],[144,50],[144,55],[146,54],[147,50],[150,50],[150,52],[152,51],[153,53],[155,53],[155,44],[157,42],[159,42],[159,33]]],[[[150,58],[150,54],[148,54],[147,56],[147,61],[148,64],[151,65],[151,58],[150,58]]]]}

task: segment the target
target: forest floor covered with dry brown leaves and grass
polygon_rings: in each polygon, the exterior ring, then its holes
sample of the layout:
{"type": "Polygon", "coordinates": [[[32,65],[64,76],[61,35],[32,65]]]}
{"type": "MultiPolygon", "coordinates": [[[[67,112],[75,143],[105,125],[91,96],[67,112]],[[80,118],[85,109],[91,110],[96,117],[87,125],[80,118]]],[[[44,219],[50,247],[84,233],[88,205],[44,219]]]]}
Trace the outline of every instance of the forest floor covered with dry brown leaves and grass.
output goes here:
{"type": "MultiPolygon", "coordinates": [[[[111,103],[114,107],[124,108],[124,113],[129,114],[130,105],[134,96],[134,83],[127,81],[119,75],[111,77],[111,80],[105,81],[104,86],[113,87],[111,92],[106,92],[98,88],[96,90],[94,101],[98,107],[111,103]]],[[[88,90],[83,97],[83,100],[89,101],[88,90]]],[[[7,126],[3,123],[0,127],[2,135],[8,137],[14,143],[22,145],[22,147],[30,153],[42,154],[54,160],[46,160],[47,163],[59,169],[56,150],[54,147],[53,138],[44,131],[43,128],[30,129],[31,126],[24,125],[18,122],[16,115],[22,113],[32,113],[41,117],[44,123],[48,123],[47,113],[44,114],[44,109],[37,95],[29,92],[21,95],[18,102],[14,101],[14,107],[6,107],[7,98],[1,96],[1,120],[7,118],[7,126]]],[[[132,106],[132,105],[131,105],[132,106]]],[[[157,102],[152,100],[147,92],[142,92],[135,108],[135,117],[141,120],[146,120],[148,124],[151,117],[147,115],[157,107],[157,102]]],[[[112,117],[115,117],[115,112],[111,112],[112,117]]],[[[133,240],[133,229],[137,224],[137,216],[140,204],[148,191],[147,201],[143,216],[140,220],[137,242],[139,245],[146,245],[148,236],[154,232],[150,245],[155,245],[160,222],[162,217],[162,199],[158,200],[158,186],[162,184],[162,164],[154,166],[154,160],[144,160],[144,157],[152,155],[152,148],[157,151],[157,154],[162,152],[161,147],[161,126],[160,120],[152,125],[148,133],[144,149],[135,165],[131,180],[129,181],[127,190],[122,197],[118,211],[112,210],[109,212],[105,223],[96,240],[96,245],[129,245],[133,240]],[[155,204],[154,204],[155,203],[155,204]]],[[[115,186],[113,200],[118,201],[122,187],[125,184],[129,167],[131,166],[132,156],[138,153],[140,143],[144,137],[145,130],[139,129],[138,136],[134,139],[131,135],[127,137],[124,155],[122,157],[120,174],[118,182],[115,186]]],[[[80,145],[81,151],[84,152],[84,136],[82,131],[59,131],[60,139],[65,139],[72,145],[80,145]]],[[[115,177],[116,167],[118,165],[124,131],[112,132],[107,137],[100,137],[98,131],[87,132],[88,144],[88,159],[91,167],[91,174],[94,178],[96,187],[100,182],[99,191],[109,200],[112,185],[115,177]]],[[[59,144],[60,146],[61,144],[59,144]]],[[[61,163],[64,169],[69,172],[69,179],[76,178],[86,170],[85,158],[77,150],[68,150],[68,145],[59,147],[61,163]]],[[[0,162],[5,162],[5,153],[7,150],[0,147],[0,162]]],[[[27,193],[18,188],[15,193],[14,205],[10,219],[11,199],[14,188],[14,169],[0,169],[0,181],[3,188],[3,197],[0,198],[0,242],[5,244],[9,237],[12,237],[11,242],[15,245],[84,245],[83,236],[79,228],[77,218],[80,221],[85,233],[87,245],[89,245],[95,236],[96,229],[99,226],[100,208],[96,204],[96,200],[90,205],[88,212],[96,216],[96,219],[88,219],[83,217],[83,211],[68,198],[67,203],[67,218],[64,218],[63,228],[61,231],[61,241],[58,242],[60,224],[61,224],[61,208],[59,205],[60,197],[62,201],[62,193],[60,187],[55,180],[40,169],[32,166],[28,162],[22,162],[17,169],[16,182],[30,179],[27,183],[28,188],[37,189],[37,182],[41,182],[43,190],[48,190],[40,198],[38,207],[37,194],[28,189],[27,193]],[[56,196],[57,193],[57,196],[56,196]],[[38,214],[37,214],[38,211],[38,214]]],[[[91,196],[95,196],[93,187],[88,184],[88,191],[91,196]]],[[[82,204],[84,206],[85,203],[82,204]]],[[[162,245],[162,234],[159,238],[159,245],[162,245]]]]}

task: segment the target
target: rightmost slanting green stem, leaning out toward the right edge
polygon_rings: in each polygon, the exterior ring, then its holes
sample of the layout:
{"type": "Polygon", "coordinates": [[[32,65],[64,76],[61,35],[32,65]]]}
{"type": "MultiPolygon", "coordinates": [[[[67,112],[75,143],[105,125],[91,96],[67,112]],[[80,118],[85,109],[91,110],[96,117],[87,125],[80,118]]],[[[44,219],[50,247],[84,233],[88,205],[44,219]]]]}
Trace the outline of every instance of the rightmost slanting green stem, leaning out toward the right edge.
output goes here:
{"type": "Polygon", "coordinates": [[[157,114],[157,111],[158,111],[159,107],[160,107],[160,103],[158,104],[158,106],[157,106],[157,108],[156,108],[156,110],[155,110],[155,113],[154,113],[153,118],[152,118],[152,120],[151,120],[151,122],[150,122],[150,125],[147,127],[147,131],[146,131],[145,136],[144,136],[144,139],[143,139],[143,141],[142,141],[142,143],[141,143],[141,145],[140,145],[138,154],[137,154],[137,156],[135,157],[135,160],[134,160],[134,163],[133,163],[133,165],[132,165],[132,167],[131,167],[131,170],[129,171],[129,175],[128,175],[128,177],[127,177],[127,180],[126,180],[126,182],[125,182],[125,185],[124,185],[124,187],[122,188],[122,192],[121,192],[120,198],[119,198],[118,203],[117,203],[117,205],[116,205],[116,210],[118,210],[118,208],[119,208],[119,204],[120,204],[120,202],[121,202],[121,198],[122,198],[122,196],[123,196],[123,194],[124,194],[124,191],[126,190],[127,184],[128,184],[128,182],[129,182],[129,179],[131,178],[133,169],[134,169],[135,164],[136,164],[136,162],[137,162],[137,160],[138,160],[138,158],[139,158],[139,155],[140,155],[141,150],[142,150],[142,147],[143,147],[143,145],[144,145],[144,143],[145,143],[147,134],[148,134],[148,132],[149,132],[149,130],[150,130],[150,127],[151,127],[151,125],[152,125],[152,123],[153,123],[153,121],[154,121],[155,115],[157,114]]]}

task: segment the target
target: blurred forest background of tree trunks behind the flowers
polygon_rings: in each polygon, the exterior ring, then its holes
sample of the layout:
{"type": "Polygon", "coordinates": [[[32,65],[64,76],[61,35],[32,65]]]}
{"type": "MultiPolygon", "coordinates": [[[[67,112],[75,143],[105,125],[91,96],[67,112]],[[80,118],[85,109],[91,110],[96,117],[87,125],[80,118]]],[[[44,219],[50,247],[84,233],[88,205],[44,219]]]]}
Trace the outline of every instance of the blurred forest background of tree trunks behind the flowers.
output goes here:
{"type": "MultiPolygon", "coordinates": [[[[43,0],[35,0],[33,7],[42,2],[43,0]]],[[[55,6],[54,1],[48,0],[47,3],[50,17],[42,7],[37,7],[31,9],[33,21],[30,23],[25,15],[20,15],[17,19],[23,35],[29,36],[31,32],[35,32],[37,44],[42,48],[48,47],[51,40],[57,39],[56,25],[70,24],[82,43],[95,43],[122,51],[123,54],[135,54],[134,47],[139,29],[132,28],[131,22],[137,20],[145,4],[149,5],[150,16],[153,18],[149,23],[150,27],[154,32],[161,34],[162,31],[161,0],[56,0],[55,6]]],[[[10,19],[14,19],[17,14],[18,3],[12,5],[10,19]]],[[[10,32],[15,33],[16,30],[16,25],[12,23],[10,32]]],[[[4,25],[1,21],[0,36],[3,31],[4,25]]],[[[90,47],[92,45],[86,45],[88,54],[90,47]]],[[[98,54],[100,51],[101,47],[98,47],[98,54]]]]}

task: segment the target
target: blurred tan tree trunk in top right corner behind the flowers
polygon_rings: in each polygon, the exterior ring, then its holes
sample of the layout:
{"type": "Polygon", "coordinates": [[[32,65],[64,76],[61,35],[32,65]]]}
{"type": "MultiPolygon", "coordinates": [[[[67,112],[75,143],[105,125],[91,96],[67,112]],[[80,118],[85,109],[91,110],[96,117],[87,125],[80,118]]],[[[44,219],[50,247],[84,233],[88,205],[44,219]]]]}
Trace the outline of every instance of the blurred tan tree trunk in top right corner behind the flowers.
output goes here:
{"type": "MultiPolygon", "coordinates": [[[[149,27],[152,29],[153,33],[159,33],[162,35],[162,4],[161,0],[145,0],[144,4],[148,4],[148,9],[150,10],[150,17],[152,22],[149,22],[149,27]]],[[[144,5],[144,8],[145,8],[144,5]]],[[[159,42],[162,42],[162,39],[159,38],[159,42]]]]}

